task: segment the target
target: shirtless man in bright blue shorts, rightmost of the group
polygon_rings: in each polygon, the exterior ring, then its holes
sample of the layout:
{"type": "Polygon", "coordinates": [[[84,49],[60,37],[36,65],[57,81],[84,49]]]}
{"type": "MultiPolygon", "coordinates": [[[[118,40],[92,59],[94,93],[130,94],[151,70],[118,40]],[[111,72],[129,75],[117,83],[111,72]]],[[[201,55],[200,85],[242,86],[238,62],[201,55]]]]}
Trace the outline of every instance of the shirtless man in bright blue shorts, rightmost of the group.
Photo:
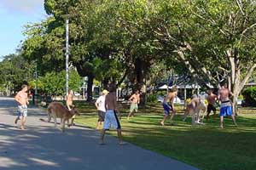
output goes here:
{"type": "Polygon", "coordinates": [[[232,95],[230,90],[226,88],[226,84],[225,83],[221,84],[221,88],[218,89],[218,99],[221,101],[220,112],[219,112],[220,128],[224,127],[223,126],[224,116],[231,116],[235,126],[237,126],[236,118],[235,118],[235,115],[233,114],[232,105],[230,103],[230,98],[229,98],[230,94],[232,95]]]}

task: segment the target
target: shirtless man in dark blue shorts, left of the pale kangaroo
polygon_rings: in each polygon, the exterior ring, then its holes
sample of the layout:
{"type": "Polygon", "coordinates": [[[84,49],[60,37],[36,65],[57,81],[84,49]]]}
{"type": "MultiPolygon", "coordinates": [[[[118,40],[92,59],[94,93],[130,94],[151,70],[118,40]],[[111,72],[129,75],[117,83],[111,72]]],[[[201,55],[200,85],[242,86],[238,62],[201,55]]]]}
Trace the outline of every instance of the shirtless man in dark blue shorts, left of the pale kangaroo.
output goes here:
{"type": "Polygon", "coordinates": [[[172,111],[172,116],[170,118],[170,122],[172,124],[172,119],[173,116],[176,115],[176,110],[174,109],[174,105],[173,105],[173,101],[175,99],[175,97],[177,96],[177,87],[173,87],[171,89],[171,91],[167,94],[166,98],[163,101],[163,108],[164,108],[164,118],[163,120],[160,122],[160,124],[162,126],[165,125],[165,121],[168,118],[168,116],[170,116],[170,111],[172,111]],[[168,102],[170,102],[170,105],[168,105],[168,102]]]}

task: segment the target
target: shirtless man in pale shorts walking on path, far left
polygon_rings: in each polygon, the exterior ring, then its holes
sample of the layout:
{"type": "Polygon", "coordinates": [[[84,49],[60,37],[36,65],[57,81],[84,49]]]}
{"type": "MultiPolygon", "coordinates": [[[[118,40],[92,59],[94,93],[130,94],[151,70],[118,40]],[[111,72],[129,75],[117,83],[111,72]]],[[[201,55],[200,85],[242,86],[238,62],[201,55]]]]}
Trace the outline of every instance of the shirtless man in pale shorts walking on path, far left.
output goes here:
{"type": "Polygon", "coordinates": [[[18,116],[15,119],[15,126],[17,126],[17,122],[21,120],[21,130],[25,130],[27,105],[29,104],[26,93],[27,90],[27,85],[22,85],[20,92],[18,92],[18,94],[15,95],[15,101],[18,103],[18,116]]]}

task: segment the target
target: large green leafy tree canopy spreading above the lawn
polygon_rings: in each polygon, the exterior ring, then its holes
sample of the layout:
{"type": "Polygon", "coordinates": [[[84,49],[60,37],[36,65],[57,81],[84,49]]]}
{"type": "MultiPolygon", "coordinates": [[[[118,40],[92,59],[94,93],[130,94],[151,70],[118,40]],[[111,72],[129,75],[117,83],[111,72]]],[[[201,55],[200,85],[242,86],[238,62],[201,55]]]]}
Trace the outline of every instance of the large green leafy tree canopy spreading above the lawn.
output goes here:
{"type": "Polygon", "coordinates": [[[256,67],[254,0],[45,0],[44,8],[49,18],[27,27],[22,49],[45,73],[63,69],[67,19],[71,63],[90,85],[126,79],[141,88],[165,63],[202,86],[230,82],[236,99],[256,67]]]}

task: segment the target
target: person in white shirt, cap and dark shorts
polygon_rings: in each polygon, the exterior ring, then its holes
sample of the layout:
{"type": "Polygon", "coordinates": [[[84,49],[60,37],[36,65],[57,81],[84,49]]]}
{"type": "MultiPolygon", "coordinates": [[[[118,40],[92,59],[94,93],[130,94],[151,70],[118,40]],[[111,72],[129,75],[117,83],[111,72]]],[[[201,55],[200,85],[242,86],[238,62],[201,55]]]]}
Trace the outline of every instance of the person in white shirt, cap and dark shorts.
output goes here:
{"type": "Polygon", "coordinates": [[[105,108],[105,99],[106,95],[108,94],[108,90],[103,90],[102,95],[96,99],[95,105],[98,111],[98,122],[96,124],[96,129],[100,129],[102,126],[102,122],[104,122],[106,108],[105,108]]]}

